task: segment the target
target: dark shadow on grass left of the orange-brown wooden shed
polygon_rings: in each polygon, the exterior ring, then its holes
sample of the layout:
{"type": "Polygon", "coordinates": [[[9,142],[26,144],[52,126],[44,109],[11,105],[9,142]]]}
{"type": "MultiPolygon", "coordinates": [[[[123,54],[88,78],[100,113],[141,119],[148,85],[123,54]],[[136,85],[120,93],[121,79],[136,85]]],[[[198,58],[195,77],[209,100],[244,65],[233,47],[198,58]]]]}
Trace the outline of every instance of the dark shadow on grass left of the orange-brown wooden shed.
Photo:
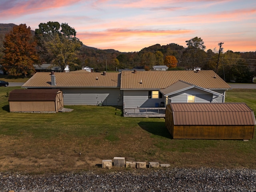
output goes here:
{"type": "Polygon", "coordinates": [[[138,125],[147,132],[161,137],[172,139],[170,132],[165,127],[165,122],[139,122],[138,125]]]}

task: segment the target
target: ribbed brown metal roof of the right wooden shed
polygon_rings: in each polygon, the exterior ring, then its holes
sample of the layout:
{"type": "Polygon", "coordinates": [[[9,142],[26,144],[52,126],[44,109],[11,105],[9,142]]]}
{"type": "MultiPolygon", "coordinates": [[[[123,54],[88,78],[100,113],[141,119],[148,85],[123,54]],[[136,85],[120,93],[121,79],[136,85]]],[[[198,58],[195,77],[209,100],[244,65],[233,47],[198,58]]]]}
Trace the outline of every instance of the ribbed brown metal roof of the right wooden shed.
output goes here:
{"type": "Polygon", "coordinates": [[[171,103],[174,125],[256,125],[245,103],[171,103]]]}

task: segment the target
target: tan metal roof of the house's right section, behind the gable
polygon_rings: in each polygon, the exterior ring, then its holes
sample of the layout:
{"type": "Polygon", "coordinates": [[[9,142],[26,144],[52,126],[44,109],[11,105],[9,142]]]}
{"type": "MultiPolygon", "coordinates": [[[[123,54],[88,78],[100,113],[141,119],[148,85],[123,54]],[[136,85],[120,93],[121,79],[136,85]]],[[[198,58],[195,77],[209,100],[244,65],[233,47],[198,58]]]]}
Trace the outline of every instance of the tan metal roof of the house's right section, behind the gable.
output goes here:
{"type": "Polygon", "coordinates": [[[195,71],[122,71],[121,89],[164,89],[182,80],[206,89],[231,89],[212,70],[195,71]],[[142,83],[140,83],[142,82],[142,83]]]}

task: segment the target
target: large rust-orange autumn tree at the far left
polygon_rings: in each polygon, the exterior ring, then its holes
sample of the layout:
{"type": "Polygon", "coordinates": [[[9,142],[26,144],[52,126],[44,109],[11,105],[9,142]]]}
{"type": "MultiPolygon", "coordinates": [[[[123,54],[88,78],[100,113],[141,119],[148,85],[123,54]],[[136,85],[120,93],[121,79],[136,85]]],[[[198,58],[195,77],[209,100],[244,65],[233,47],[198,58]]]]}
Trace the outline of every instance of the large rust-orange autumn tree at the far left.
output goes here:
{"type": "Polygon", "coordinates": [[[34,64],[38,62],[36,42],[31,34],[30,27],[26,24],[14,26],[4,38],[4,56],[2,67],[9,75],[25,77],[34,73],[34,64]]]}

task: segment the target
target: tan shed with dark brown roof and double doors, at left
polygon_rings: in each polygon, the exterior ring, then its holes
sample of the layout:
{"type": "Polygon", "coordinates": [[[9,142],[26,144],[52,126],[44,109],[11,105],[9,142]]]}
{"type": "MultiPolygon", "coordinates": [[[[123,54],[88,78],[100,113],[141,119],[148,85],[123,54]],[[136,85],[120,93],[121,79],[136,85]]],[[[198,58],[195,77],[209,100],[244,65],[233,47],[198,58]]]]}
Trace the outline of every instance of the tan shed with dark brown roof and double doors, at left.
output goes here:
{"type": "Polygon", "coordinates": [[[17,89],[9,94],[10,112],[56,113],[63,108],[59,89],[17,89]]]}

